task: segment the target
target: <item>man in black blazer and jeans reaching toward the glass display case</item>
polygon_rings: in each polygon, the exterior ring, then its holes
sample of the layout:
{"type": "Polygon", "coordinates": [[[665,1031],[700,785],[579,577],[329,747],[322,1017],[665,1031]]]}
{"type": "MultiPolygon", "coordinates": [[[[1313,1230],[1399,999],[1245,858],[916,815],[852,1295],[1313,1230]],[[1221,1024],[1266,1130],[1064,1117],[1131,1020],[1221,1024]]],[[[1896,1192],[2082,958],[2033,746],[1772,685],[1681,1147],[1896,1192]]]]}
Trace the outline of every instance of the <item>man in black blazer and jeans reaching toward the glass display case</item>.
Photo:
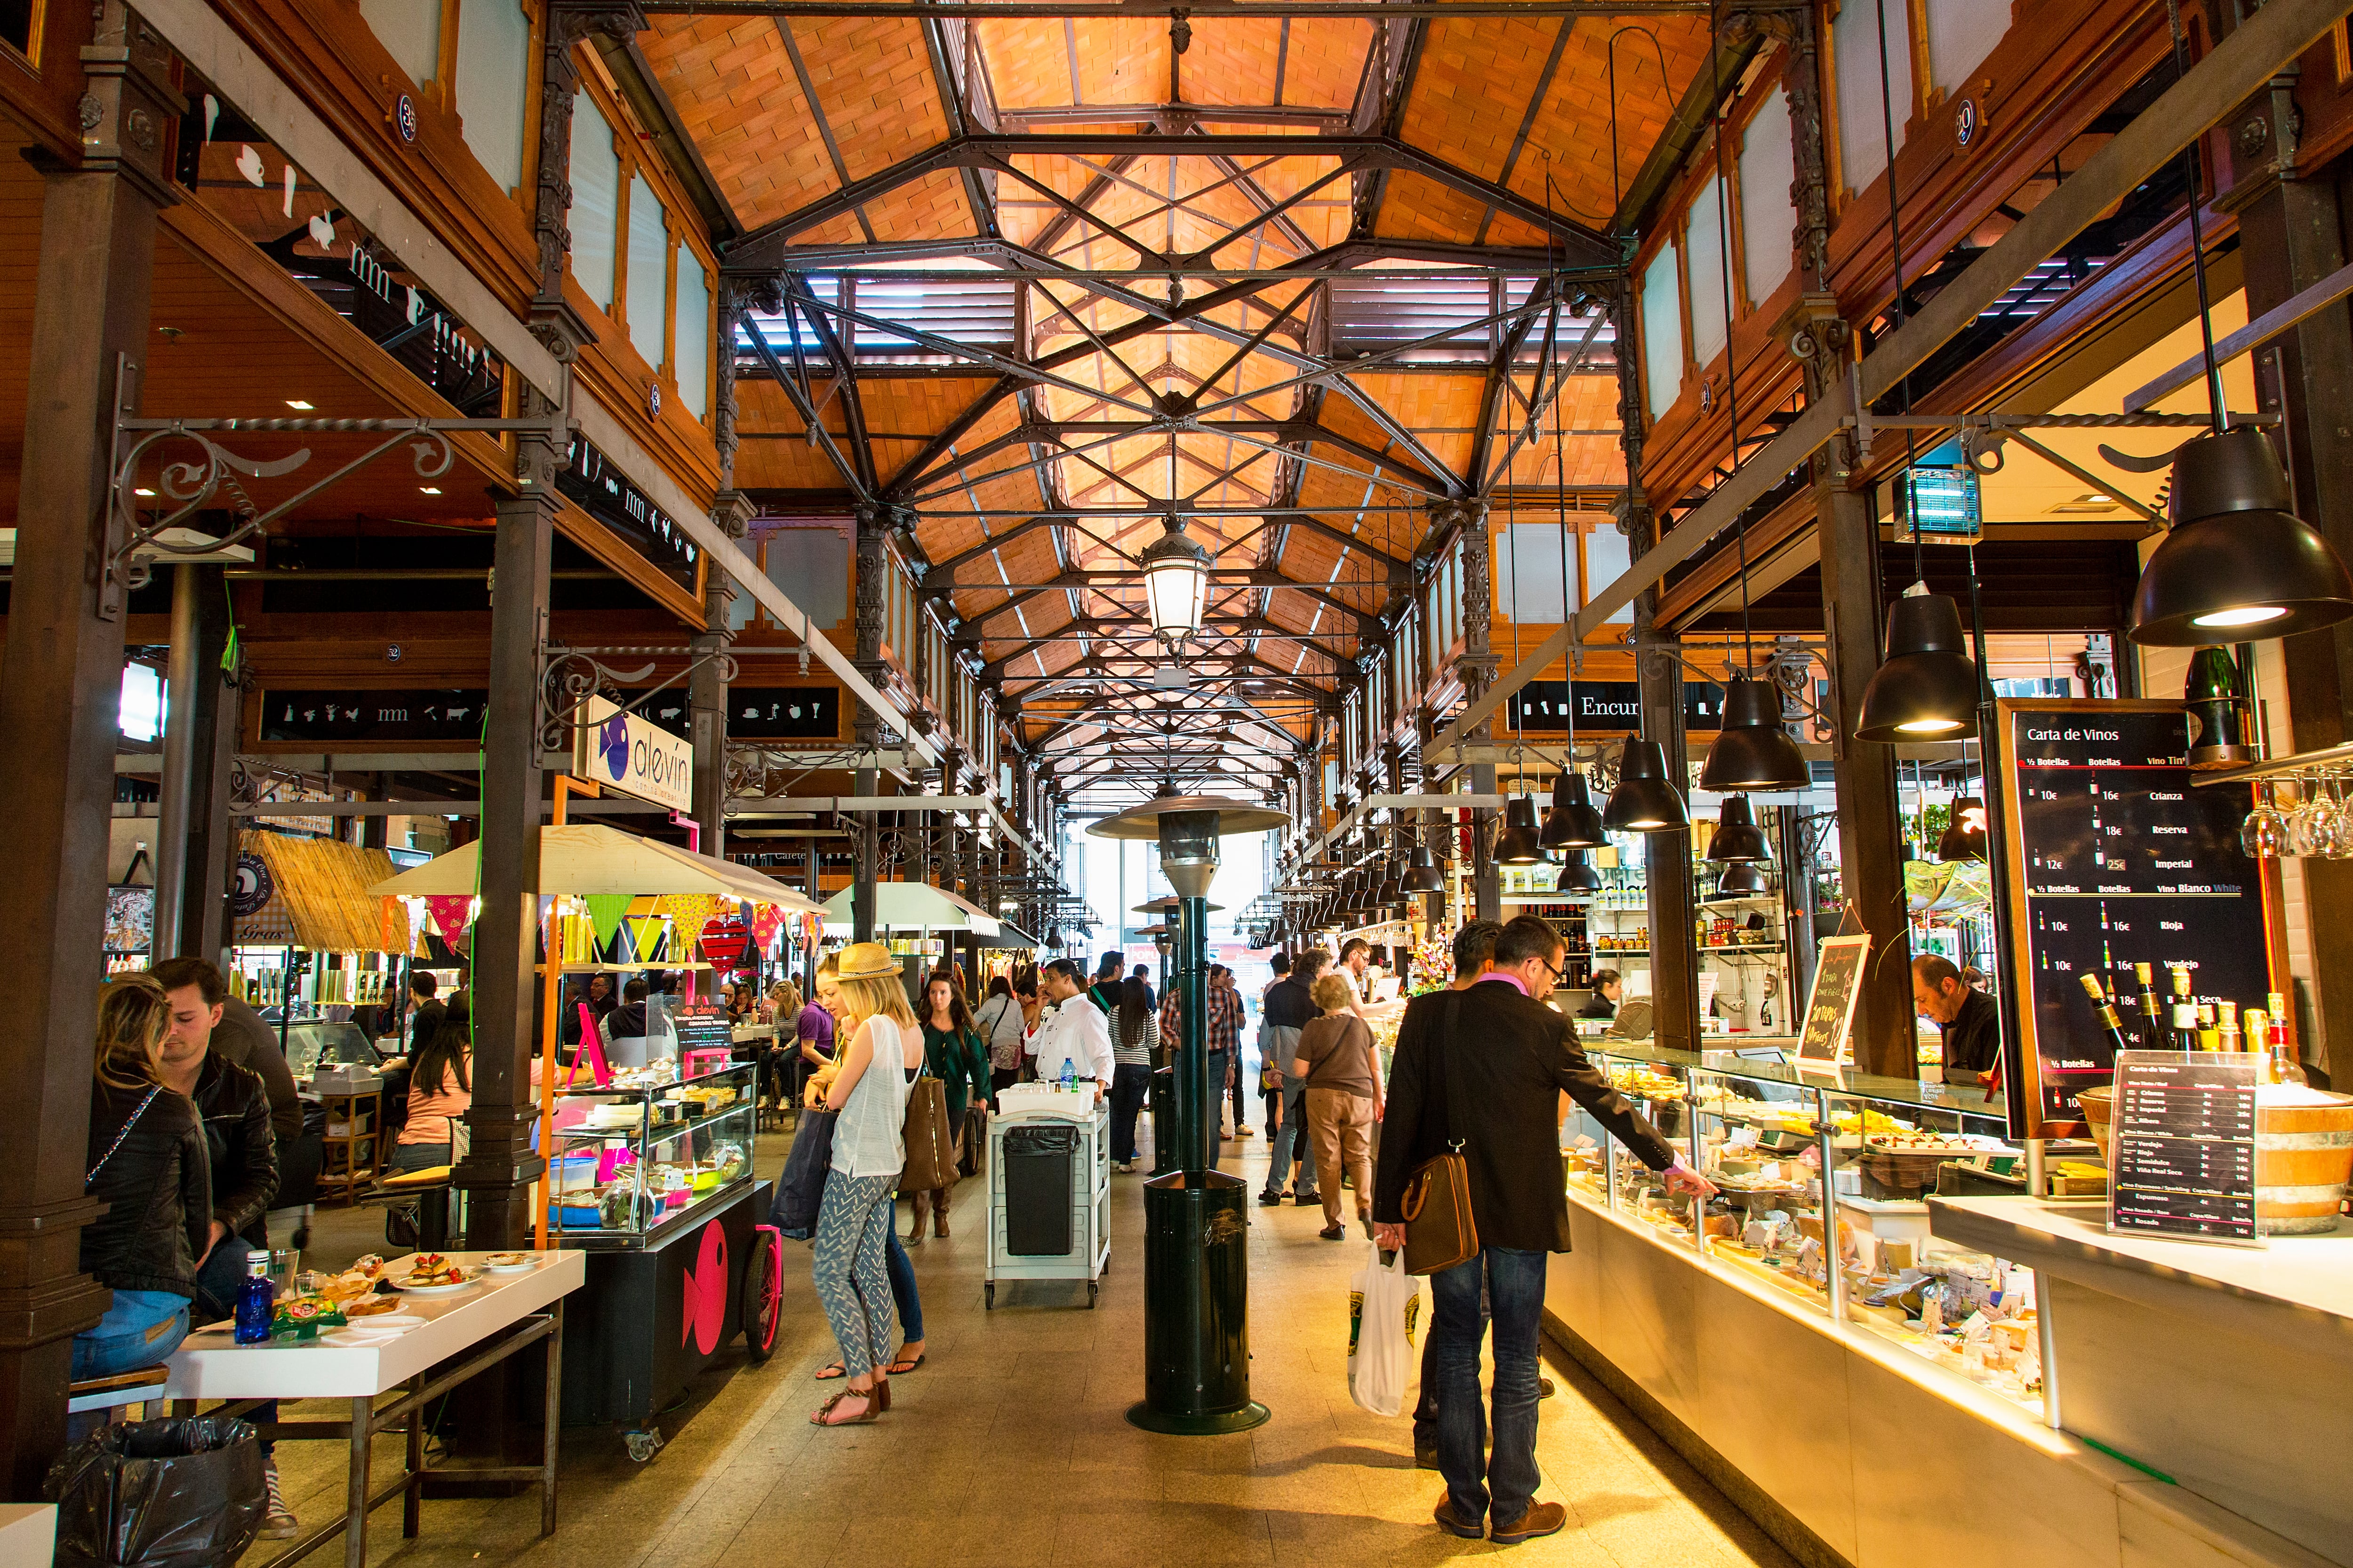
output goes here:
{"type": "Polygon", "coordinates": [[[1560,1097],[1586,1107],[1668,1191],[1704,1201],[1715,1189],[1609,1088],[1577,1034],[1537,1001],[1560,984],[1560,932],[1537,916],[1511,921],[1494,968],[1398,1029],[1372,1184],[1374,1238],[1405,1245],[1405,1182],[1457,1140],[1471,1175],[1480,1255],[1431,1276],[1438,1389],[1438,1469],[1447,1479],[1435,1519],[1466,1540],[1497,1544],[1551,1535],[1567,1521],[1537,1502],[1537,1335],[1548,1253],[1569,1250],[1560,1180],[1560,1097]],[[1478,1389],[1480,1290],[1494,1318],[1494,1453],[1478,1389]]]}

